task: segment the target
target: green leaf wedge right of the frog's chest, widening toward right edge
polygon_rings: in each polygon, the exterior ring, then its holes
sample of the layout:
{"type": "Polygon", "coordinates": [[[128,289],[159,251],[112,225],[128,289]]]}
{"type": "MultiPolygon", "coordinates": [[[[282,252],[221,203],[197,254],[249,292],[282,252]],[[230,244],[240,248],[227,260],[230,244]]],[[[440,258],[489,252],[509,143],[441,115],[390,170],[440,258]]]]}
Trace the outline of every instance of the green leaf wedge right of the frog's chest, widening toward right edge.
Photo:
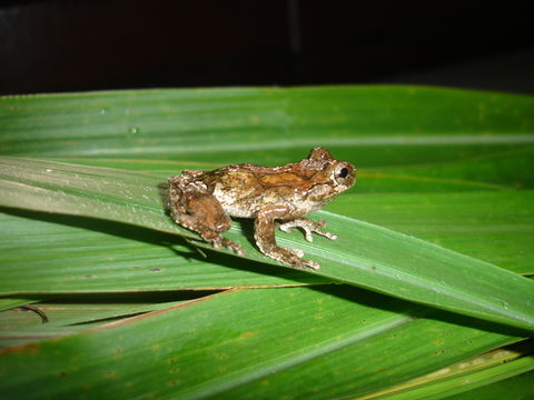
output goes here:
{"type": "Polygon", "coordinates": [[[328,211],[484,260],[534,273],[534,192],[349,194],[328,211]]]}

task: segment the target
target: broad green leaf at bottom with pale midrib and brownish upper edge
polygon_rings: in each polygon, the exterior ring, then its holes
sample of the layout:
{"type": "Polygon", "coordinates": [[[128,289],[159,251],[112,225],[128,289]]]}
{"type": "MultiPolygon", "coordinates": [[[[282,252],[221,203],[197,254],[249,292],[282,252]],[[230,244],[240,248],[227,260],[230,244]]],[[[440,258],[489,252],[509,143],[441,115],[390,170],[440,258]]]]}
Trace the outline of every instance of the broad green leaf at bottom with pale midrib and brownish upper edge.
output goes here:
{"type": "Polygon", "coordinates": [[[225,292],[0,350],[0,396],[346,398],[518,339],[449,317],[339,286],[225,292]]]}

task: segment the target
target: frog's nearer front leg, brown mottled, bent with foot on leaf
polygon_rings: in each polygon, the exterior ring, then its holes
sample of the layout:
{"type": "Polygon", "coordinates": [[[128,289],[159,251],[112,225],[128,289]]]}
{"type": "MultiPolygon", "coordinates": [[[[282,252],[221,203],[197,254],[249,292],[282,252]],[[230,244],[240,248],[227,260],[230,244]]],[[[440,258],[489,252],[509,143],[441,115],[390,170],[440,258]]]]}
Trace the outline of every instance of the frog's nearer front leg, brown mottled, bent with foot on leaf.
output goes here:
{"type": "Polygon", "coordinates": [[[256,244],[267,257],[296,268],[319,269],[319,263],[309,260],[303,260],[303,251],[298,249],[286,249],[276,244],[275,221],[285,219],[290,211],[284,206],[273,206],[261,210],[256,217],[255,233],[256,244]]]}

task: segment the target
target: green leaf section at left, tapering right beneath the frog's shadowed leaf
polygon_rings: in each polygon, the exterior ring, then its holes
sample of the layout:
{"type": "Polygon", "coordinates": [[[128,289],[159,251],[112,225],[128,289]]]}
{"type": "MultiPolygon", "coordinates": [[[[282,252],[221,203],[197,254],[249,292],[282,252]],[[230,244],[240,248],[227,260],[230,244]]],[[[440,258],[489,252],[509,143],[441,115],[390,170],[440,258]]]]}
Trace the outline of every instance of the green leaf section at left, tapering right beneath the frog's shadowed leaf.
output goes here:
{"type": "MultiPolygon", "coordinates": [[[[8,209],[0,213],[0,293],[228,289],[330,280],[206,250],[123,223],[8,209]],[[61,254],[61,262],[58,262],[61,254]]],[[[26,303],[26,302],[23,302],[26,303]]],[[[9,308],[9,307],[8,307],[9,308]]]]}

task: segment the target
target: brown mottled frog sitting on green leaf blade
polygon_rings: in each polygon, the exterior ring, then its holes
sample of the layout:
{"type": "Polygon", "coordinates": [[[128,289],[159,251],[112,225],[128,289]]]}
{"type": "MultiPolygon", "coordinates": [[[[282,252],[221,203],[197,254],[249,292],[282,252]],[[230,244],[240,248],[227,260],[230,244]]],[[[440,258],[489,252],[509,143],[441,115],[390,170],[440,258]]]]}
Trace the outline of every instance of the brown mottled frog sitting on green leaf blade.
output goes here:
{"type": "Polygon", "coordinates": [[[245,256],[239,243],[224,236],[231,218],[254,219],[254,239],[265,256],[298,269],[318,270],[316,261],[305,260],[300,249],[279,247],[275,229],[284,232],[300,228],[305,239],[313,233],[336,240],[326,232],[324,220],[304,216],[322,209],[356,182],[356,169],[334,159],[320,147],[299,162],[280,167],[238,163],[211,171],[182,170],[169,178],[169,208],[176,223],[197,232],[215,249],[227,248],[245,256]]]}

